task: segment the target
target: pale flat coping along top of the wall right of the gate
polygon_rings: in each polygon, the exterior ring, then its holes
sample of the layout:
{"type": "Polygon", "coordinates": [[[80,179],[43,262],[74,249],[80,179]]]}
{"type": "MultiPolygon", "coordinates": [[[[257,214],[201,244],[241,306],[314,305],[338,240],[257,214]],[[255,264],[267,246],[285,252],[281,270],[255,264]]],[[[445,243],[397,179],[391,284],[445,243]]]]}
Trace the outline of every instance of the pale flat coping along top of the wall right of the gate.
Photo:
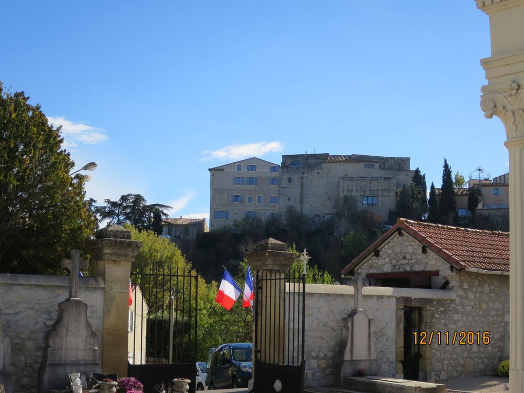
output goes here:
{"type": "MultiPolygon", "coordinates": [[[[348,285],[306,284],[305,292],[347,295],[355,294],[355,289],[348,285]]],[[[397,298],[457,299],[455,292],[449,289],[364,287],[362,288],[362,294],[369,296],[392,296],[397,298]]]]}

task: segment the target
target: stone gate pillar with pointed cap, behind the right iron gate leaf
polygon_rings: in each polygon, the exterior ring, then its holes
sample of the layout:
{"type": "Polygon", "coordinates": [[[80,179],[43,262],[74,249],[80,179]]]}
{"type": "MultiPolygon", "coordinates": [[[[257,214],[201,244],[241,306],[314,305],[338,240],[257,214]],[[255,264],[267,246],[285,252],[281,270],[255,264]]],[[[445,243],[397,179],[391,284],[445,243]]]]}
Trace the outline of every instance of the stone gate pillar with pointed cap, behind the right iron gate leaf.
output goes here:
{"type": "Polygon", "coordinates": [[[256,361],[279,364],[285,361],[285,318],[284,299],[286,292],[285,273],[289,270],[296,254],[288,252],[286,243],[268,238],[255,244],[252,252],[246,253],[247,264],[256,271],[254,281],[255,325],[259,342],[253,332],[253,376],[256,361]],[[258,278],[258,279],[257,279],[258,278]],[[261,288],[258,288],[261,281],[261,288]],[[260,295],[260,297],[259,297],[260,295]],[[270,310],[264,315],[261,310],[270,310]],[[277,322],[278,321],[278,322],[277,322]],[[257,354],[260,354],[257,357],[257,354]]]}

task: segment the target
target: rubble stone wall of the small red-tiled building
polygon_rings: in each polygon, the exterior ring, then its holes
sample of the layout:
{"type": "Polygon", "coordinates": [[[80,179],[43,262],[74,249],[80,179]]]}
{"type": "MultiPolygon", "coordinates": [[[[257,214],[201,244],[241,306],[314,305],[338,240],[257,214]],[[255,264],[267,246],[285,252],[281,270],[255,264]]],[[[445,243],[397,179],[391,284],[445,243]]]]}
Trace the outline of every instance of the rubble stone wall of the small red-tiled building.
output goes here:
{"type": "MultiPolygon", "coordinates": [[[[432,287],[439,288],[449,280],[446,291],[452,291],[456,300],[425,300],[399,298],[397,309],[404,306],[422,308],[422,330],[428,332],[489,332],[490,342],[484,344],[421,346],[422,377],[435,381],[466,375],[492,375],[497,365],[507,358],[509,331],[509,276],[486,275],[457,270],[431,250],[422,252],[419,242],[408,235],[395,235],[380,248],[378,257],[370,255],[357,271],[366,273],[438,270],[432,287]]],[[[397,321],[400,329],[402,318],[397,321]]],[[[476,337],[476,336],[475,336],[476,337]]],[[[476,338],[475,338],[476,341],[476,338]]],[[[397,340],[397,348],[403,343],[397,340]]],[[[399,359],[397,359],[399,360],[399,359]]],[[[397,364],[398,367],[398,364],[397,364]]],[[[397,368],[397,373],[401,369],[397,368]]]]}

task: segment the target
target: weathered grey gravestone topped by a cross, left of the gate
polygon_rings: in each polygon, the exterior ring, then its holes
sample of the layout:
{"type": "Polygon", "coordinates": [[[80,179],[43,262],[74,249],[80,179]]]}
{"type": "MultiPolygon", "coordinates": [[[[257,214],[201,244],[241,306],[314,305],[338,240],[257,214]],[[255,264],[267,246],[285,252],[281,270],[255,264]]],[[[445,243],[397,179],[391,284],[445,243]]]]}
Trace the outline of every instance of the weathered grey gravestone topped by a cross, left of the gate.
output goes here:
{"type": "Polygon", "coordinates": [[[78,298],[80,269],[87,268],[80,251],[72,250],[71,259],[62,259],[70,269],[69,297],[58,304],[58,317],[45,337],[43,356],[38,368],[38,392],[69,387],[69,374],[83,376],[99,373],[98,335],[88,320],[88,305],[78,298]]]}

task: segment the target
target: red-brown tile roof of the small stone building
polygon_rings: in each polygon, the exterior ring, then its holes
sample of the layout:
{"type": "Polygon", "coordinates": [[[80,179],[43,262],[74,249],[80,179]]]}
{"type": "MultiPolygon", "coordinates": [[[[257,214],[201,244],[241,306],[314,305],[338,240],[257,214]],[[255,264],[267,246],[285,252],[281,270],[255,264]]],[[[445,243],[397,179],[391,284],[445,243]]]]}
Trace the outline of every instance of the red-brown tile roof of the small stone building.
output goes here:
{"type": "Polygon", "coordinates": [[[390,230],[353,259],[342,274],[358,266],[374,249],[399,231],[409,234],[457,269],[509,271],[509,232],[398,219],[390,230]]]}

